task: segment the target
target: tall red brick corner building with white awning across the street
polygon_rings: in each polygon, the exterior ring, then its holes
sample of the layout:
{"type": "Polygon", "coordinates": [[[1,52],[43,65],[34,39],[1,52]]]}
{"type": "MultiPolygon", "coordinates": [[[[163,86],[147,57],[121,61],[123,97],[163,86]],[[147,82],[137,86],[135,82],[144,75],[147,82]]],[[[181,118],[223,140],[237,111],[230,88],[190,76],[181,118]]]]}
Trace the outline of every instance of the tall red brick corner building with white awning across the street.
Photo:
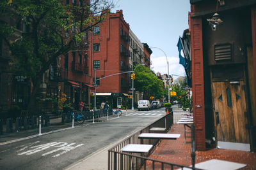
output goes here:
{"type": "Polygon", "coordinates": [[[125,22],[122,10],[107,15],[104,22],[93,27],[89,38],[92,84],[95,70],[96,78],[102,78],[97,81],[97,103],[108,101],[113,107],[120,107],[127,101],[129,91],[129,74],[117,74],[129,70],[129,24],[125,22]],[[111,74],[116,75],[109,76],[111,74]]]}

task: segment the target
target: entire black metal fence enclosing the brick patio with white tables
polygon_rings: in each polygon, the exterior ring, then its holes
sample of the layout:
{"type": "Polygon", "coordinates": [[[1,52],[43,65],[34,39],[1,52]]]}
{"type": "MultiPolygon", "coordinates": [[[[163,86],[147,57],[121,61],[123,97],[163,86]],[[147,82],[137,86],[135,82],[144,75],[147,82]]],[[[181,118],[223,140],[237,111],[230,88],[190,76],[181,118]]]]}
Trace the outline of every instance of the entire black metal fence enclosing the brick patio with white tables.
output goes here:
{"type": "Polygon", "coordinates": [[[152,127],[165,127],[168,131],[173,123],[178,122],[180,118],[184,117],[184,113],[189,113],[189,111],[172,111],[168,115],[159,118],[159,120],[153,124],[148,125],[141,131],[135,132],[131,136],[125,138],[123,141],[118,143],[118,145],[113,146],[113,148],[108,150],[108,169],[183,169],[184,167],[188,169],[195,169],[194,167],[187,167],[161,160],[149,159],[148,156],[153,152],[154,148],[156,148],[157,143],[159,143],[159,139],[143,139],[143,144],[153,145],[152,150],[150,150],[146,155],[142,155],[142,153],[121,152],[121,149],[125,145],[141,144],[142,141],[138,138],[138,136],[141,133],[148,133],[149,129],[152,127]]]}

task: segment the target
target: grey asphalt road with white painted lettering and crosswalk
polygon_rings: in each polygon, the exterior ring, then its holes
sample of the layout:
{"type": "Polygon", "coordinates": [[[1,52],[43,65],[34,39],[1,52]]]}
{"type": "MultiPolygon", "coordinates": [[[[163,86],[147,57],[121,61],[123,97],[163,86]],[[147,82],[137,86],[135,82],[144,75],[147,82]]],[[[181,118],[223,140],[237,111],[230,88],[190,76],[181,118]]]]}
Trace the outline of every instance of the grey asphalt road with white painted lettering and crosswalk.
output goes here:
{"type": "MultiPolygon", "coordinates": [[[[164,108],[134,111],[0,146],[0,169],[63,169],[163,117],[164,108]]],[[[95,162],[97,166],[97,162],[95,162]]]]}

